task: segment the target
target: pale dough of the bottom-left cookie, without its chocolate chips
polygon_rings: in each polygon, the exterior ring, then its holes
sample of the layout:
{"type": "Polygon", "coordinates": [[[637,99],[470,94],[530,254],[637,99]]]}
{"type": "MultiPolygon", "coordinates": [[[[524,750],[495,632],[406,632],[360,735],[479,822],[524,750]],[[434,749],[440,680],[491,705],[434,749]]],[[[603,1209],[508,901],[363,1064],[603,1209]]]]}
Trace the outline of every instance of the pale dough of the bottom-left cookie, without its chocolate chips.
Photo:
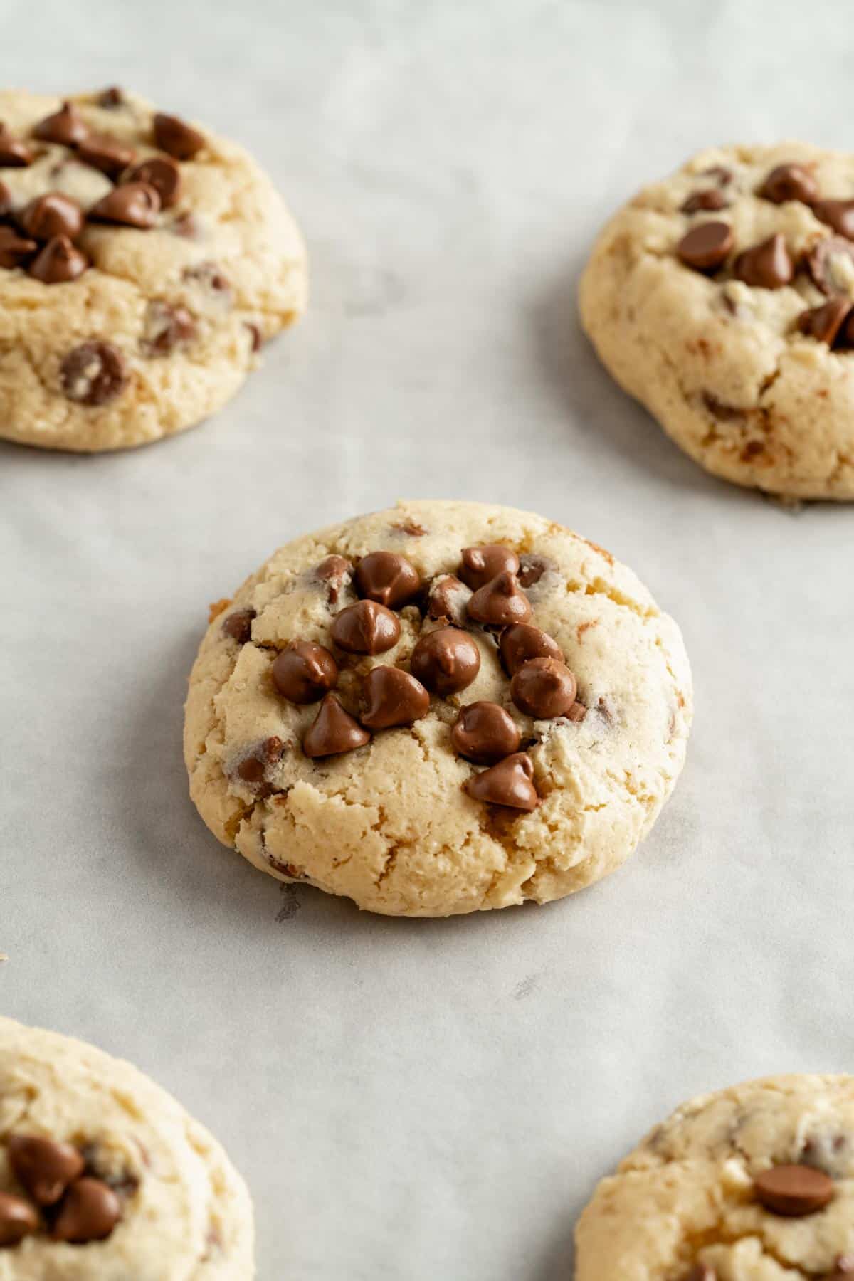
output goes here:
{"type": "Polygon", "coordinates": [[[0,1190],[10,1134],[92,1144],[102,1177],[129,1176],[105,1241],[46,1236],[0,1249],[1,1281],[251,1281],[252,1204],[228,1157],[165,1090],[120,1059],[56,1032],[0,1018],[0,1190]]]}

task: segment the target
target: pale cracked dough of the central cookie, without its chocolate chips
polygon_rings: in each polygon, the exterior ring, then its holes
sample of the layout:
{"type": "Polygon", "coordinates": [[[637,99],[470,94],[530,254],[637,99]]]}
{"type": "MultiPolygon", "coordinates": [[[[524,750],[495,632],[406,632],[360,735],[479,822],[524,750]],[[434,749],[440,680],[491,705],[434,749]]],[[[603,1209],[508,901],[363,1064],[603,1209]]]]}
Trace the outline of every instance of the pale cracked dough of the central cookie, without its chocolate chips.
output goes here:
{"type": "MultiPolygon", "coordinates": [[[[355,597],[341,600],[335,610],[355,597]]],[[[184,757],[191,796],[219,839],[262,871],[288,880],[284,865],[360,907],[399,916],[448,916],[561,898],[615,871],[647,835],[685,758],[691,681],[681,635],[647,589],[577,534],[510,507],[405,502],[282,547],[238,591],[205,637],[189,679],[184,757]],[[407,729],[384,730],[366,747],[320,761],[298,747],[316,705],[296,707],[270,684],[278,648],[291,639],[329,643],[329,605],[311,570],[330,553],[389,550],[425,579],[453,573],[462,547],[501,542],[545,559],[528,589],[533,623],[562,647],[590,708],[581,724],[531,721],[510,702],[495,644],[480,629],[472,685],[407,729]],[[252,640],[242,648],[223,617],[252,606],[252,640]],[[460,706],[503,703],[524,739],[543,797],[531,813],[471,799],[475,767],[451,747],[460,706]],[[260,798],[234,766],[268,737],[293,744],[260,798]]],[[[419,615],[401,615],[401,638],[365,658],[402,665],[419,615]]]]}

